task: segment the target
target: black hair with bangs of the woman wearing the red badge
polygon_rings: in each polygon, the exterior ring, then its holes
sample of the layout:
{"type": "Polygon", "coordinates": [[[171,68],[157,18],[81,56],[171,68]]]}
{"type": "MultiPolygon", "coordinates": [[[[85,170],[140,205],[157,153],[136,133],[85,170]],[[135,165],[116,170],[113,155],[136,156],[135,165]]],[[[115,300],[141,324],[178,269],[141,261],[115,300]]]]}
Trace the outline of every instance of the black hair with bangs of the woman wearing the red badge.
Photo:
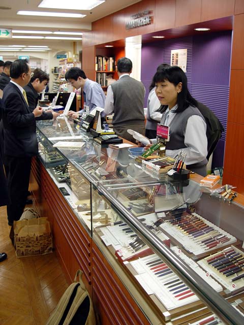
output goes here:
{"type": "Polygon", "coordinates": [[[154,75],[153,82],[156,84],[166,80],[173,83],[175,86],[177,86],[179,82],[182,84],[181,91],[177,96],[178,108],[175,111],[176,113],[184,111],[190,105],[197,107],[197,101],[192,97],[188,90],[187,76],[182,69],[177,66],[162,68],[154,75]]]}

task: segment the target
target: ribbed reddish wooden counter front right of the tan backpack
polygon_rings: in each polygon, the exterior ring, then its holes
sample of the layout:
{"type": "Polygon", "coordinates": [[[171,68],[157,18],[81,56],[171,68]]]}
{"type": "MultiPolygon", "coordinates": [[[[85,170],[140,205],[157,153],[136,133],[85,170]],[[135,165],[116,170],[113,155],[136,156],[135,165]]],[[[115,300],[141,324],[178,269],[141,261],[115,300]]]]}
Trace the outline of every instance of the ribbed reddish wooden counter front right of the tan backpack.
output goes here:
{"type": "Polygon", "coordinates": [[[106,325],[149,324],[94,242],[92,252],[93,302],[95,310],[101,316],[101,323],[106,325]]]}

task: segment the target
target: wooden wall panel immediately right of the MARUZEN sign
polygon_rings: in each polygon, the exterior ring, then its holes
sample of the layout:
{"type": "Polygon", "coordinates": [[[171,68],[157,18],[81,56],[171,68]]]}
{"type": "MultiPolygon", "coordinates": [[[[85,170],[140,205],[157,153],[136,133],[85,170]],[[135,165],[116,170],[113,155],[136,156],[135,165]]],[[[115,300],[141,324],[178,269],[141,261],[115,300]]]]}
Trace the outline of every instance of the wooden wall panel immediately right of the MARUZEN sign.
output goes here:
{"type": "Polygon", "coordinates": [[[164,30],[175,26],[175,0],[156,0],[155,30],[164,30]]]}

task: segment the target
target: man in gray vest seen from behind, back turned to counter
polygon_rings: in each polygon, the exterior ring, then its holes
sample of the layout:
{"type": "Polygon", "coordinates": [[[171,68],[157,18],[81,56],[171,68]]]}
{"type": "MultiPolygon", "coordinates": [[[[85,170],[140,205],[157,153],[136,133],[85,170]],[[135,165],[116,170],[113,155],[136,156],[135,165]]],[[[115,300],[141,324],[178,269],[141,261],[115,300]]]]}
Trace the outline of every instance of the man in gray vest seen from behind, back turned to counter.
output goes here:
{"type": "Polygon", "coordinates": [[[130,77],[132,61],[122,57],[117,61],[119,79],[108,87],[104,105],[105,115],[114,113],[113,129],[116,135],[135,143],[127,132],[133,129],[145,135],[143,101],[145,88],[140,81],[130,77]]]}

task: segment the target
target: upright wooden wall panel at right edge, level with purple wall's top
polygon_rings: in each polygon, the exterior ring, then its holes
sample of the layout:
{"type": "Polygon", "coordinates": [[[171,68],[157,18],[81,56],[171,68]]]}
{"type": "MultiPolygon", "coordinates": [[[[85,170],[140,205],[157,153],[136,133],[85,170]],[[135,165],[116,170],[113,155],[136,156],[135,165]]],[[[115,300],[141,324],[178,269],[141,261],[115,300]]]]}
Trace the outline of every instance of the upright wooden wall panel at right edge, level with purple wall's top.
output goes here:
{"type": "Polygon", "coordinates": [[[231,69],[244,69],[244,14],[234,16],[231,69]]]}

